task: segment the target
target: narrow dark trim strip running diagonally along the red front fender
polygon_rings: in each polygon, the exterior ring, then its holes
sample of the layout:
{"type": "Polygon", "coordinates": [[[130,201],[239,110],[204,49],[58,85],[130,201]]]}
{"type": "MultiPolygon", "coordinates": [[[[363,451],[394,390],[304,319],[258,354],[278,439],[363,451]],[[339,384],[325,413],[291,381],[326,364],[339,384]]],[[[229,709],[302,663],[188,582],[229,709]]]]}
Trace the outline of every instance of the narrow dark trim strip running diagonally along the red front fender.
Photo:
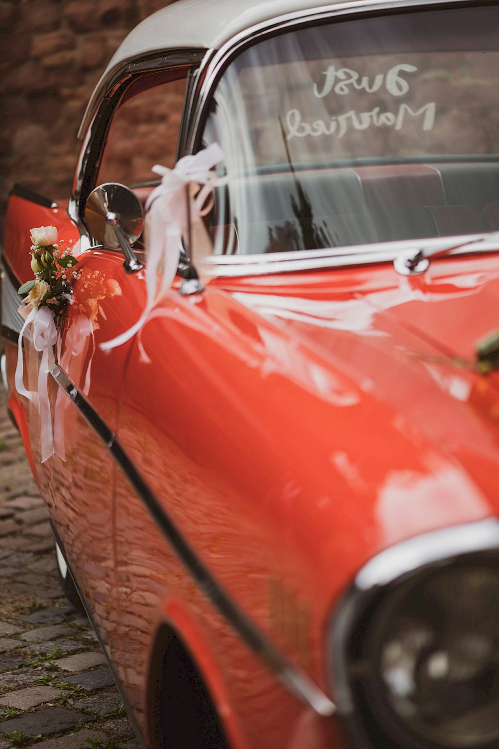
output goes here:
{"type": "Polygon", "coordinates": [[[165,536],[179,560],[187,568],[187,571],[196,580],[196,583],[198,583],[205,595],[208,596],[211,603],[217,607],[217,610],[232,625],[232,628],[241,635],[255,655],[258,655],[264,661],[264,664],[278,676],[279,680],[295,697],[298,697],[312,707],[319,715],[333,715],[336,712],[336,706],[331,702],[329,697],[312,682],[312,679],[303,670],[291,664],[267,640],[267,637],[261,633],[258,627],[238,607],[238,604],[232,601],[232,598],[229,597],[193,548],[190,547],[172,519],[163,510],[156,495],[151,491],[151,488],[149,488],[139,471],[133,466],[132,461],[130,461],[127,453],[121,447],[114,432],[103,422],[103,419],[100,418],[91,404],[88,403],[70,379],[64,375],[64,372],[61,371],[58,365],[55,365],[50,374],[58,386],[70,396],[73,403],[82,413],[82,416],[85,417],[88,424],[94,428],[100,439],[106,444],[109,452],[115,458],[118,467],[121,468],[124,476],[127,477],[139,499],[145,504],[148,512],[163,533],[163,536],[165,536]]]}

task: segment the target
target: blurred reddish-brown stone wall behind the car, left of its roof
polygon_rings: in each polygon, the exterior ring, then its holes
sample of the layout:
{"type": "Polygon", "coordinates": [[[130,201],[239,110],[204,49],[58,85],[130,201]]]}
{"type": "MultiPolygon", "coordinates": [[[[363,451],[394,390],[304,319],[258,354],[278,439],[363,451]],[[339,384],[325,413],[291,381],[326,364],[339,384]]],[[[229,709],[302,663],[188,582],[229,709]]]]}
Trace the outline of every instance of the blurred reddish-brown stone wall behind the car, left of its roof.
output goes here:
{"type": "Polygon", "coordinates": [[[169,1],[0,0],[1,219],[15,182],[67,200],[94,85],[128,31],[169,1]]]}

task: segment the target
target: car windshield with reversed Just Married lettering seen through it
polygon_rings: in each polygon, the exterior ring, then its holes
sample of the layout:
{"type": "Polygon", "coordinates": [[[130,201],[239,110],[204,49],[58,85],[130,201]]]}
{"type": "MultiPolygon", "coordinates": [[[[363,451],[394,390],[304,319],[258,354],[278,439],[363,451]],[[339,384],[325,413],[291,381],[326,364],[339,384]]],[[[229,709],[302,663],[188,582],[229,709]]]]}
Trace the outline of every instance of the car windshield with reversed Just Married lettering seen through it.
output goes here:
{"type": "Polygon", "coordinates": [[[245,49],[203,137],[230,177],[210,216],[214,252],[498,230],[498,22],[492,3],[405,8],[245,49]]]}

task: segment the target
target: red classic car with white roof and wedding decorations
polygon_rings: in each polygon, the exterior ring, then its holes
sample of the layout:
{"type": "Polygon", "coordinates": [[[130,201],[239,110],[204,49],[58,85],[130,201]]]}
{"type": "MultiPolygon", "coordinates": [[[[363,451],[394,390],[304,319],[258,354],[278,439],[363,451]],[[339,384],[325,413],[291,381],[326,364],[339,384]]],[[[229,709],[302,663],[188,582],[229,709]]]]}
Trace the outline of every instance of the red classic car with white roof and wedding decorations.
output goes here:
{"type": "Polygon", "coordinates": [[[145,746],[499,745],[498,25],[180,1],[67,210],[13,188],[8,404],[145,746]]]}

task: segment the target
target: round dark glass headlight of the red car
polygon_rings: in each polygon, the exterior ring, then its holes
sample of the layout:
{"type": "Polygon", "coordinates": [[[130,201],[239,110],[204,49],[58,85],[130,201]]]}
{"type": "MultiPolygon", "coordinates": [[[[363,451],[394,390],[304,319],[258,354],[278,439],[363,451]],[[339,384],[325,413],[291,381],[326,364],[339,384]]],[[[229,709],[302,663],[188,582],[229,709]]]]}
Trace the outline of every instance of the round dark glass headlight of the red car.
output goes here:
{"type": "Polygon", "coordinates": [[[351,642],[368,731],[408,747],[499,746],[499,565],[483,555],[389,586],[351,642]]]}

